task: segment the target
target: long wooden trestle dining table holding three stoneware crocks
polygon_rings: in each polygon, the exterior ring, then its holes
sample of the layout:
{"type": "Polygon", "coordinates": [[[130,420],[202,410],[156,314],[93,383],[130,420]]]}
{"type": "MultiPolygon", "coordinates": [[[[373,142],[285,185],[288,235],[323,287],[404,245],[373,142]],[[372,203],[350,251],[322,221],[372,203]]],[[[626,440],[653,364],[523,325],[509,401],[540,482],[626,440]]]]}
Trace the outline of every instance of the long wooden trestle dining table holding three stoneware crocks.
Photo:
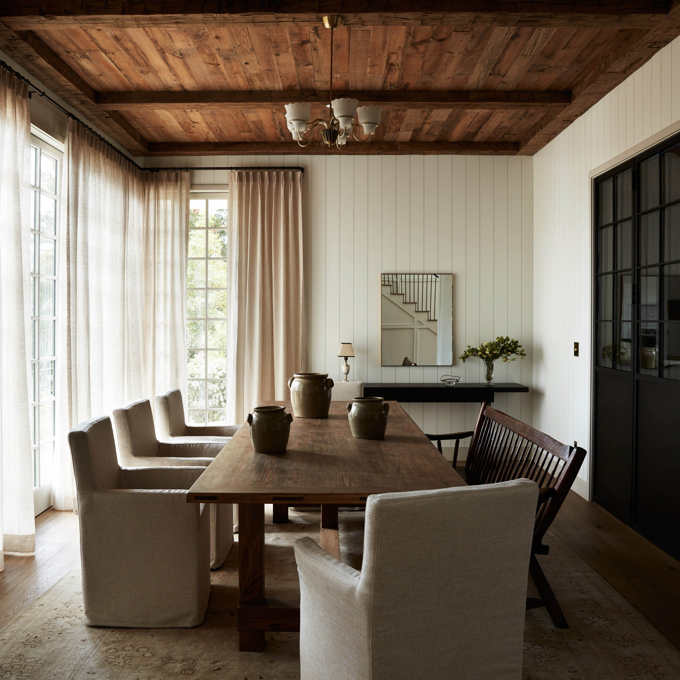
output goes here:
{"type": "MultiPolygon", "coordinates": [[[[265,598],[265,504],[321,505],[320,545],[340,558],[338,506],[371,494],[465,486],[462,477],[396,401],[384,439],[354,439],[345,401],[328,418],[294,418],[282,454],[257,454],[248,424],[237,431],[188,490],[188,503],[239,504],[241,651],[262,651],[267,631],[300,630],[300,601],[265,598]]],[[[263,401],[260,406],[290,402],[263,401]]],[[[285,520],[284,520],[285,521],[285,520]]]]}

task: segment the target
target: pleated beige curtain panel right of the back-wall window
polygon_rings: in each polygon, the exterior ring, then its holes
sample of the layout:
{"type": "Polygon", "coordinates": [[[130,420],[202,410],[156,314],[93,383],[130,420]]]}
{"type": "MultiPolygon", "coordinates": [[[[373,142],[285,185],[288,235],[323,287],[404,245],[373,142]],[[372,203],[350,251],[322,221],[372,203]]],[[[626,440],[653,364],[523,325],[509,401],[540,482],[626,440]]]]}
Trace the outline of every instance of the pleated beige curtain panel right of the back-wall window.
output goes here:
{"type": "Polygon", "coordinates": [[[287,399],[305,370],[302,173],[229,176],[227,420],[287,399]]]}

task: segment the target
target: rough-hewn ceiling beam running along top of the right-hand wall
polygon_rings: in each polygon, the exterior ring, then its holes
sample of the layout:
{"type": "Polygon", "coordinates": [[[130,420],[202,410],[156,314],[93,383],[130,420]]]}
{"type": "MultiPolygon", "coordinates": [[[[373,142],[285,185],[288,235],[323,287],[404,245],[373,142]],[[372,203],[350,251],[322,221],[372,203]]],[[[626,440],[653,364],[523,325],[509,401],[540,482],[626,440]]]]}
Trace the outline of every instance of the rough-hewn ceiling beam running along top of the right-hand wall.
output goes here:
{"type": "Polygon", "coordinates": [[[524,137],[520,153],[532,155],[541,150],[679,34],[680,0],[674,0],[670,12],[655,29],[642,37],[631,35],[605,61],[586,74],[572,92],[572,103],[561,111],[548,112],[524,137]]]}

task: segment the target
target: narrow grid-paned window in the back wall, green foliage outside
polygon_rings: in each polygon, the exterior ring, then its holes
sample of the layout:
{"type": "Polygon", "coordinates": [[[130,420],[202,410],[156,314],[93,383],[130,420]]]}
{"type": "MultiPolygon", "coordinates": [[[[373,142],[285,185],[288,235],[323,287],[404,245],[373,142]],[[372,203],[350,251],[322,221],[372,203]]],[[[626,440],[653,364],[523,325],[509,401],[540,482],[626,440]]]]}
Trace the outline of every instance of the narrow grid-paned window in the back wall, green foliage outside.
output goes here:
{"type": "Polygon", "coordinates": [[[187,269],[187,402],[190,423],[225,418],[226,193],[192,192],[187,269]]]}

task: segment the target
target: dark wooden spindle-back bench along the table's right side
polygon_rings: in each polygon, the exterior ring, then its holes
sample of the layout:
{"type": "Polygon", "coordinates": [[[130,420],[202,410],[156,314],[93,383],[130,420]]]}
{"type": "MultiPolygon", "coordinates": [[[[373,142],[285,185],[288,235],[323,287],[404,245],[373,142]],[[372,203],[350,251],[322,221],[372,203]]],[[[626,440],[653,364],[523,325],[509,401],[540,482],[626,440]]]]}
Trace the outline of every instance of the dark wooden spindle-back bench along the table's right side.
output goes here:
{"type": "Polygon", "coordinates": [[[472,437],[464,471],[468,484],[491,484],[524,477],[539,485],[541,493],[534,523],[529,573],[541,597],[527,598],[526,608],[545,607],[557,628],[568,628],[536,556],[548,554],[549,545],[543,537],[576,479],[585,458],[585,449],[562,444],[540,430],[492,409],[488,403],[481,405],[472,432],[426,437],[437,442],[439,452],[442,451],[442,441],[456,441],[454,467],[458,460],[460,440],[472,437]]]}

